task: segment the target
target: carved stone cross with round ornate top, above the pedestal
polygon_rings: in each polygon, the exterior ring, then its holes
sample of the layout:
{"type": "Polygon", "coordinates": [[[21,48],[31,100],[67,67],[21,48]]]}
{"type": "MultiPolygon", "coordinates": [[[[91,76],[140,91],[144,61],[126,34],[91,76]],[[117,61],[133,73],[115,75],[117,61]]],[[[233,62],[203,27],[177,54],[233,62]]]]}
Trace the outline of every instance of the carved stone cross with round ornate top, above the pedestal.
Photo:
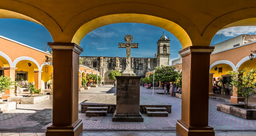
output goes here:
{"type": "Polygon", "coordinates": [[[119,43],[119,48],[126,48],[126,71],[131,70],[131,48],[139,48],[139,44],[131,43],[133,37],[127,34],[124,38],[126,43],[119,43]]]}

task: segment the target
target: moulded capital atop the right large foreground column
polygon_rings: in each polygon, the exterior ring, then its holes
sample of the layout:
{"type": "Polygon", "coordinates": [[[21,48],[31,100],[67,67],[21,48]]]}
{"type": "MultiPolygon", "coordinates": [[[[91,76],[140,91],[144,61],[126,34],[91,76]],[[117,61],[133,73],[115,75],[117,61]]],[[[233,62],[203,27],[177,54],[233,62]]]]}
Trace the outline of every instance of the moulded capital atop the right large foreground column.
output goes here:
{"type": "Polygon", "coordinates": [[[184,57],[191,53],[211,54],[215,47],[213,46],[189,46],[181,51],[179,54],[184,57]]]}

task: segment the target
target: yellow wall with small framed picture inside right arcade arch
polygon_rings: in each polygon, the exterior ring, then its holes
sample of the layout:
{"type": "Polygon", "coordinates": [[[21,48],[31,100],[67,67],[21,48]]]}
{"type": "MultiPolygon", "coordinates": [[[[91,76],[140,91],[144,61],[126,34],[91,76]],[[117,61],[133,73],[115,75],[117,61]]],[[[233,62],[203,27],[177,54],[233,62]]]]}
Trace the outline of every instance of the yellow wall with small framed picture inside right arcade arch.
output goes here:
{"type": "MultiPolygon", "coordinates": [[[[229,65],[227,65],[227,64],[218,64],[218,65],[215,65],[215,66],[213,66],[212,68],[211,68],[211,70],[210,70],[210,73],[214,73],[213,74],[213,78],[216,78],[216,77],[220,77],[221,78],[221,75],[226,75],[227,73],[227,71],[232,71],[233,69],[232,69],[232,67],[231,66],[229,66],[229,65]],[[218,73],[218,69],[215,71],[214,70],[214,68],[215,67],[222,67],[222,73],[218,73]]],[[[220,84],[221,85],[221,84],[220,84]]]]}

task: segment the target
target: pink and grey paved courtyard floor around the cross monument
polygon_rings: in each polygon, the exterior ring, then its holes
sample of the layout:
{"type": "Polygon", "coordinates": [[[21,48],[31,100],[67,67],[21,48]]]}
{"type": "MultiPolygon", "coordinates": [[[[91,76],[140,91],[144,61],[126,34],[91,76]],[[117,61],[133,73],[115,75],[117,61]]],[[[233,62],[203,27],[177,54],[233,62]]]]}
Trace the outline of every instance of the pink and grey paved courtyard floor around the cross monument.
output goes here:
{"type": "MultiPolygon", "coordinates": [[[[113,85],[104,85],[99,87],[99,95],[114,95],[116,88],[113,85]],[[112,93],[112,94],[111,94],[112,93]]],[[[161,95],[163,89],[154,90],[154,97],[172,105],[172,113],[168,117],[147,117],[142,114],[144,122],[112,122],[112,115],[108,114],[106,117],[86,117],[85,113],[79,113],[79,119],[82,119],[84,132],[99,132],[99,133],[84,133],[83,135],[116,135],[116,131],[129,131],[129,135],[138,136],[160,136],[163,134],[175,135],[175,128],[177,120],[181,119],[181,99],[170,97],[170,95],[161,95]],[[108,131],[104,134],[102,131],[108,131]],[[110,133],[115,131],[113,133],[110,133]],[[135,131],[135,132],[130,132],[135,131]],[[140,131],[140,134],[137,134],[140,131]],[[144,131],[144,132],[141,132],[144,131]],[[148,132],[150,131],[150,132],[148,132]],[[156,131],[157,134],[151,134],[156,131]],[[161,132],[161,134],[159,133],[161,132]]],[[[97,95],[97,89],[91,88],[89,90],[79,92],[79,103],[89,100],[97,95]]],[[[152,96],[152,89],[141,87],[142,96],[152,96]]],[[[157,103],[157,102],[156,102],[157,103]]],[[[212,126],[218,135],[221,133],[240,132],[253,133],[256,135],[256,120],[245,120],[235,116],[231,116],[217,111],[217,103],[227,103],[220,100],[209,99],[209,125],[212,126]]],[[[63,105],[65,106],[65,105],[63,105]]],[[[199,105],[200,106],[200,105],[199,105]]],[[[79,109],[81,106],[79,105],[79,109]]],[[[198,111],[200,116],[200,111],[198,111]]],[[[0,132],[38,132],[44,133],[47,126],[52,123],[52,96],[50,100],[38,104],[17,104],[17,109],[0,114],[0,132]]],[[[7,134],[7,133],[5,133],[7,134]]],[[[5,134],[2,134],[4,136],[5,134]]],[[[18,134],[18,133],[13,133],[18,134]]],[[[29,133],[31,134],[31,133],[29,133]]],[[[234,134],[234,133],[232,133],[234,134]]],[[[21,134],[23,135],[23,134],[21,134]]],[[[35,135],[35,133],[33,134],[35,135]]],[[[41,134],[38,134],[41,135],[41,134]]],[[[42,134],[43,135],[43,134],[42,134]]],[[[0,133],[1,136],[1,133],[0,133]]]]}

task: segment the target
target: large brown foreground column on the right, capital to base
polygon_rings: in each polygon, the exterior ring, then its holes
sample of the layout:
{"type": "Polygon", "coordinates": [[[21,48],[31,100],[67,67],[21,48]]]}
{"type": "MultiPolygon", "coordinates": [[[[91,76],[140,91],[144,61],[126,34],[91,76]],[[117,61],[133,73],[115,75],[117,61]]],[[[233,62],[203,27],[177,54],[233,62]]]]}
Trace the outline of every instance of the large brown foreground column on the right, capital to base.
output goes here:
{"type": "Polygon", "coordinates": [[[208,125],[210,54],[214,47],[190,46],[182,56],[181,120],[176,132],[182,136],[214,136],[208,125]],[[200,86],[198,86],[200,84],[200,86]]]}

